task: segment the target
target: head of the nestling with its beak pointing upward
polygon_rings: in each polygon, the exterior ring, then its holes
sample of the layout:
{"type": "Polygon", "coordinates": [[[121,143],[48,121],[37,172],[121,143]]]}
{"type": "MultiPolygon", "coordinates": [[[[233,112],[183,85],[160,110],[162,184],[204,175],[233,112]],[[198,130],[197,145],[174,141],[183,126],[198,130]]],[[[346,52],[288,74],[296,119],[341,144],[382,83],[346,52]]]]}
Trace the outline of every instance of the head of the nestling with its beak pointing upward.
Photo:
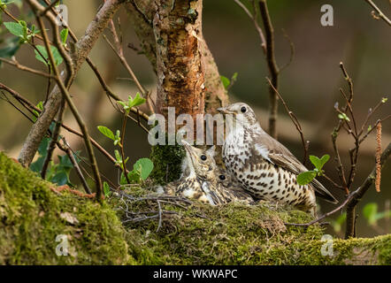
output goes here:
{"type": "Polygon", "coordinates": [[[182,144],[186,149],[190,176],[196,175],[196,177],[203,180],[212,180],[216,169],[216,161],[214,160],[215,147],[212,146],[210,149],[204,150],[197,149],[186,141],[182,141],[182,144]]]}

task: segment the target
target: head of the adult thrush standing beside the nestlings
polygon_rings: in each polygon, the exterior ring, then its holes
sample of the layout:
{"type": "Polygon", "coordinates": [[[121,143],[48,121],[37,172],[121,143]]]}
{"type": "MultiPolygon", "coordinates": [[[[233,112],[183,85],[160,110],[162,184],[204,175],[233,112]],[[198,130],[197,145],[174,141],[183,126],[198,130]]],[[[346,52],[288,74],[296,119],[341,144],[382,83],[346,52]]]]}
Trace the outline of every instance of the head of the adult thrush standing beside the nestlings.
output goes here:
{"type": "Polygon", "coordinates": [[[254,111],[246,103],[234,103],[226,107],[221,107],[218,111],[224,115],[232,116],[238,126],[255,126],[259,125],[257,116],[254,111]]]}

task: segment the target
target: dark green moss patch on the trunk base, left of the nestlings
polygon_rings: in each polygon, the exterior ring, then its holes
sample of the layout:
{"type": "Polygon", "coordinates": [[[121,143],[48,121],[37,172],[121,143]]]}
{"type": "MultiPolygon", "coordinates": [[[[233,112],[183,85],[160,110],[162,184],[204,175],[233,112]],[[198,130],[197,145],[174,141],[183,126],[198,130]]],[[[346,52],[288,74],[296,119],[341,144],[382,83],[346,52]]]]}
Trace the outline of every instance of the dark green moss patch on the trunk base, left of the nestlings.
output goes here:
{"type": "Polygon", "coordinates": [[[152,147],[150,159],[154,164],[151,178],[158,184],[166,184],[180,178],[180,164],[186,153],[182,146],[156,145],[152,147]]]}

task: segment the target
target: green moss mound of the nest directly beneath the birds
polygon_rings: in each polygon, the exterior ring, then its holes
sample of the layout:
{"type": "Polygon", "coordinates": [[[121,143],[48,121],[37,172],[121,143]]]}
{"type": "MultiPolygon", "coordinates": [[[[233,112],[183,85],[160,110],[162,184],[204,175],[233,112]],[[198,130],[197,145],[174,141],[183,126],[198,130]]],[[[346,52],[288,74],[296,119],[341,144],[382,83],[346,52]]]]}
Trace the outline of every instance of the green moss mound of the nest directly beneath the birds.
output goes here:
{"type": "Polygon", "coordinates": [[[269,203],[255,207],[195,204],[180,215],[129,230],[132,256],[142,264],[287,264],[280,247],[320,239],[322,229],[286,228],[284,221],[306,222],[301,211],[269,203]],[[276,249],[276,251],[274,250],[276,249]]]}

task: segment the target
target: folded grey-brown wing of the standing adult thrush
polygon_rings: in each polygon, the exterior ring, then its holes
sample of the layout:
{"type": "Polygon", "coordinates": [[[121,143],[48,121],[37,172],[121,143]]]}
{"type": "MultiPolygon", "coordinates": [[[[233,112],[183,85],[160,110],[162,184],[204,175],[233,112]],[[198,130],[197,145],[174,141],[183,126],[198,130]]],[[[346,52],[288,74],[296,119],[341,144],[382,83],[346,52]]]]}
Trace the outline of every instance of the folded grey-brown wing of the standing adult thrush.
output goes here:
{"type": "MultiPolygon", "coordinates": [[[[274,140],[269,134],[262,133],[257,136],[254,141],[256,150],[265,159],[268,159],[273,164],[280,166],[296,175],[308,171],[305,166],[297,160],[297,158],[280,142],[274,140]],[[261,150],[259,150],[261,149],[261,150]]],[[[318,180],[312,180],[311,186],[314,187],[316,195],[324,198],[330,203],[338,203],[334,195],[332,195],[326,187],[323,187],[318,180]]]]}

